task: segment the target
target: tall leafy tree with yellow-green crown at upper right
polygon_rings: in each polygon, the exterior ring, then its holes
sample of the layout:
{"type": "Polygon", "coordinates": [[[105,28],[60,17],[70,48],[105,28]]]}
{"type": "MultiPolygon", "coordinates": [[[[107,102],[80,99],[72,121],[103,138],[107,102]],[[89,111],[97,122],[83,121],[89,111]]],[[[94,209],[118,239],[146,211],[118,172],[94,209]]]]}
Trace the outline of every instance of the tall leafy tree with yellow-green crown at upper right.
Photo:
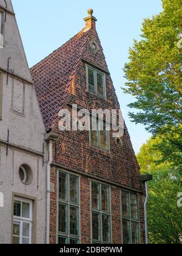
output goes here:
{"type": "MultiPolygon", "coordinates": [[[[125,93],[135,96],[130,118],[153,135],[163,135],[182,152],[182,0],[163,0],[163,12],[143,22],[140,41],[134,41],[126,63],[125,93]]],[[[166,152],[167,156],[172,151],[166,152]]]]}

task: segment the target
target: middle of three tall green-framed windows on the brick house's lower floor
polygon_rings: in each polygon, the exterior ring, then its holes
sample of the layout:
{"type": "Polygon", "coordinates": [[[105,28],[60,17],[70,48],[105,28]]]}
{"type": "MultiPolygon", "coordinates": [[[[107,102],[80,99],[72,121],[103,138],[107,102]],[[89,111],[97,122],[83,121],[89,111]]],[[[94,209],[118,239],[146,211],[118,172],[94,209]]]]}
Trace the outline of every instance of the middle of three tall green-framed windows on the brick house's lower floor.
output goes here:
{"type": "Polygon", "coordinates": [[[91,182],[92,244],[112,243],[110,187],[91,182]]]}

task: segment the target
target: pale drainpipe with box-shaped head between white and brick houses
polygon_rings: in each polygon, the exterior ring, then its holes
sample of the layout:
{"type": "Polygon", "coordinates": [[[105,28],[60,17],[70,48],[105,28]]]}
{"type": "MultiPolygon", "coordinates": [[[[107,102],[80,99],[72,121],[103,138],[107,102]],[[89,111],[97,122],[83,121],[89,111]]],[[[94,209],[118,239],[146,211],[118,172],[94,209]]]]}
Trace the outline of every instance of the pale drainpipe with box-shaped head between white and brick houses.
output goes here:
{"type": "Polygon", "coordinates": [[[46,206],[46,244],[50,243],[50,169],[52,166],[52,144],[53,141],[58,140],[58,135],[54,132],[47,133],[44,137],[44,140],[49,143],[49,162],[47,163],[47,206],[46,206]]]}

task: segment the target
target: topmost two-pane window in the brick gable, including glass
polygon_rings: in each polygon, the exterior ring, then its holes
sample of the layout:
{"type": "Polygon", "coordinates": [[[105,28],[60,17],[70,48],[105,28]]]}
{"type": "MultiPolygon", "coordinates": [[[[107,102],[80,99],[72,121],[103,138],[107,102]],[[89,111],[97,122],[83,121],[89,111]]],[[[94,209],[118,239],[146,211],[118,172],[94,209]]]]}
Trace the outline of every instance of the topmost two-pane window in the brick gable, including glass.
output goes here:
{"type": "Polygon", "coordinates": [[[106,97],[105,74],[91,66],[87,66],[87,88],[91,93],[106,97]]]}

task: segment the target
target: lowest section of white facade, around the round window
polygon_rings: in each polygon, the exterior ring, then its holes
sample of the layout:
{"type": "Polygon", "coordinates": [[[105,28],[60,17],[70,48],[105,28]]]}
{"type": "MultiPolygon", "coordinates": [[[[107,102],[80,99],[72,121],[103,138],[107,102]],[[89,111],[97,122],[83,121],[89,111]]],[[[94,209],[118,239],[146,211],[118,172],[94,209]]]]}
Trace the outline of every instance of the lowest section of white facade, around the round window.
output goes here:
{"type": "Polygon", "coordinates": [[[0,186],[4,194],[4,207],[0,207],[0,244],[11,243],[12,232],[12,193],[35,197],[36,210],[36,243],[45,243],[45,169],[42,168],[42,158],[25,152],[0,147],[0,177],[3,182],[0,186]],[[26,163],[32,168],[33,182],[24,185],[19,179],[19,166],[26,163]]]}

